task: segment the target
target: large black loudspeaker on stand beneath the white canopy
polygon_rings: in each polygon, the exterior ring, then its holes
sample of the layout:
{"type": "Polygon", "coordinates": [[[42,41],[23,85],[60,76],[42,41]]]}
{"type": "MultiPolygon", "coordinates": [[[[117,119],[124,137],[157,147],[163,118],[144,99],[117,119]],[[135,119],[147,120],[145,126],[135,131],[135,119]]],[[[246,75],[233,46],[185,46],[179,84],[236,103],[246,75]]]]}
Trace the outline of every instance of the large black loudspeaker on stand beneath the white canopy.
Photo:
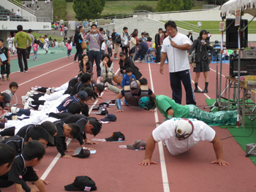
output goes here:
{"type": "MultiPolygon", "coordinates": [[[[248,20],[241,20],[241,28],[244,28],[248,24],[248,20]]],[[[227,49],[237,49],[238,48],[238,27],[235,26],[234,19],[227,19],[226,20],[226,47],[227,49]],[[233,22],[233,23],[232,23],[233,22]],[[231,25],[230,25],[231,23],[231,25]],[[229,26],[229,27],[228,27],[229,26]],[[227,28],[228,27],[228,28],[227,28]]],[[[240,47],[248,47],[248,27],[241,32],[241,39],[240,39],[240,47]]]]}

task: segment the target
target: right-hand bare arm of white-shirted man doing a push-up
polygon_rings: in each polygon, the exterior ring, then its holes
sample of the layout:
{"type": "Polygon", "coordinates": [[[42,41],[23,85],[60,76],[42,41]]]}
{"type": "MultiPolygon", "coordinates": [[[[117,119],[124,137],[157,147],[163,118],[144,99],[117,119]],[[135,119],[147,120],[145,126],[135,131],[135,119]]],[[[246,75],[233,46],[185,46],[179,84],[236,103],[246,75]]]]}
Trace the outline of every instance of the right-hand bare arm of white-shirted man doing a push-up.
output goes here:
{"type": "Polygon", "coordinates": [[[214,145],[214,151],[216,154],[216,161],[212,161],[211,164],[219,164],[219,165],[229,165],[224,159],[223,159],[223,150],[222,150],[222,142],[219,139],[219,136],[215,134],[214,139],[211,141],[214,145]]]}

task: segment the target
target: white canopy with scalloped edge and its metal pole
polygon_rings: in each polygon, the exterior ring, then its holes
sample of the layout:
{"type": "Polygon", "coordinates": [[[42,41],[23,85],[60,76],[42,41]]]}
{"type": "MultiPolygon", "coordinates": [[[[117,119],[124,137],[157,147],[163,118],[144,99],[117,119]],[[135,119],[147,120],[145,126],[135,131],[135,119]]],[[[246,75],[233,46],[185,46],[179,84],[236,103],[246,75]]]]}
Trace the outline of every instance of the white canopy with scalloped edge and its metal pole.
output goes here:
{"type": "MultiPolygon", "coordinates": [[[[241,16],[245,13],[256,16],[256,0],[230,0],[222,5],[221,15],[227,16],[228,14],[236,15],[236,11],[240,9],[241,16]]],[[[238,40],[239,42],[239,40],[238,40]]],[[[240,91],[240,47],[238,47],[239,56],[238,56],[238,114],[239,114],[239,91],[240,91]]],[[[237,117],[238,118],[238,117],[237,117]]],[[[238,121],[238,120],[237,120],[238,121]]],[[[244,114],[243,114],[244,122],[244,114]]],[[[239,123],[237,124],[239,125],[239,123]]],[[[244,126],[244,125],[243,125],[244,126]]]]}

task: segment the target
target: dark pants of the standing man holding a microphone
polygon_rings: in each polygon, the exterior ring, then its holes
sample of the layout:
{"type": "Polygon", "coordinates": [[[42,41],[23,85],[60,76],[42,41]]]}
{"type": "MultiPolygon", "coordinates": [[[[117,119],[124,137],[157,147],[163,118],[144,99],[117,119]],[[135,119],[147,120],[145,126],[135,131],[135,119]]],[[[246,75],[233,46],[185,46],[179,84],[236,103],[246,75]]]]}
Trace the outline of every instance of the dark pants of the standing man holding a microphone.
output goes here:
{"type": "Polygon", "coordinates": [[[177,104],[181,104],[182,88],[181,82],[184,85],[186,91],[186,103],[195,104],[195,94],[192,88],[191,76],[189,69],[181,72],[170,73],[170,87],[173,91],[173,99],[177,104]]]}

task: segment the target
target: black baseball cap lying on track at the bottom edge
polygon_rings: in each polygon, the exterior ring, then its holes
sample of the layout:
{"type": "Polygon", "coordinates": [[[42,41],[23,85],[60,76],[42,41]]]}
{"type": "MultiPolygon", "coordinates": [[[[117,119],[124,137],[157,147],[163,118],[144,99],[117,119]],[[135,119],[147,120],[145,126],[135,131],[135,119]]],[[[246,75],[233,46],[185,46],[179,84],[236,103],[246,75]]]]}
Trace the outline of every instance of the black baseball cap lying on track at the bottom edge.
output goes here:
{"type": "Polygon", "coordinates": [[[96,191],[94,180],[87,176],[75,177],[73,183],[64,186],[66,191],[96,191]]]}

